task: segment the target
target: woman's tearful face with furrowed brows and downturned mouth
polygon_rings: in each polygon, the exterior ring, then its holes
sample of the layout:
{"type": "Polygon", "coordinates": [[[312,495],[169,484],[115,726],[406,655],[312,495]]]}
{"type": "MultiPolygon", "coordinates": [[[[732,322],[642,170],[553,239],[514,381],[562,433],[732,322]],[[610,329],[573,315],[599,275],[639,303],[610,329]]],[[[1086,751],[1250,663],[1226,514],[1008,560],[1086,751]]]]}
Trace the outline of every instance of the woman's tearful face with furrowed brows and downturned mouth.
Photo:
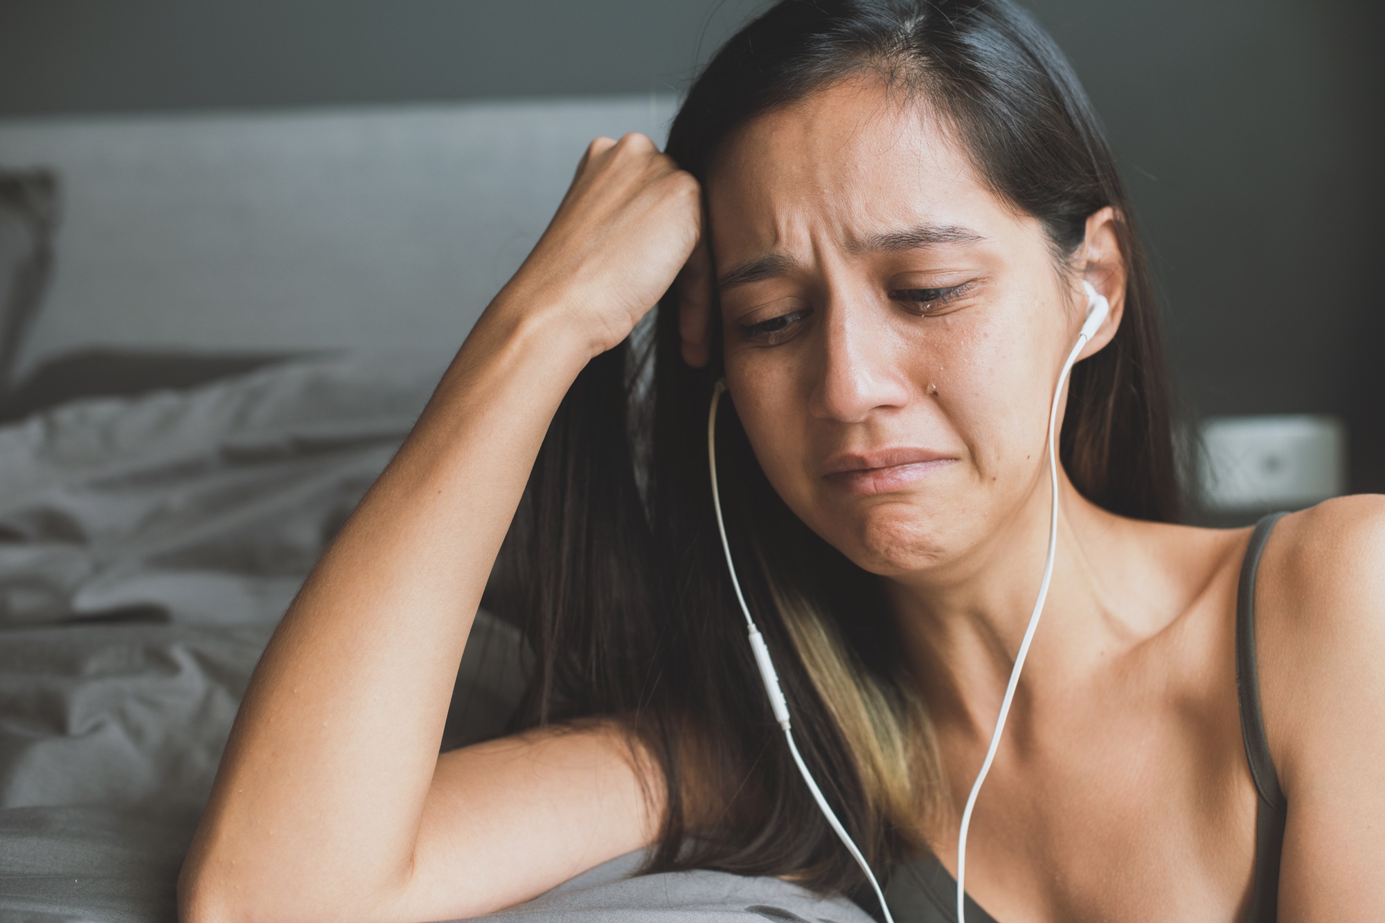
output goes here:
{"type": "Polygon", "coordinates": [[[853,80],[759,116],[706,184],[755,455],[810,529],[885,576],[958,562],[1037,495],[1084,307],[1037,219],[899,97],[853,80]]]}

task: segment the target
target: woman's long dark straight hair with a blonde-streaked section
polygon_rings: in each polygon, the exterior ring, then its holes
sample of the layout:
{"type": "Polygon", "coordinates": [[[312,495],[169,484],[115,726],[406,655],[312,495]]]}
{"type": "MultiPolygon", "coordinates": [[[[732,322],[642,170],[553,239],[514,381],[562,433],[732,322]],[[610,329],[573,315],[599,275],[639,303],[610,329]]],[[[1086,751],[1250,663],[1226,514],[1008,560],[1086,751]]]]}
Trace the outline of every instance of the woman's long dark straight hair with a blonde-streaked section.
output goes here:
{"type": "MultiPolygon", "coordinates": [[[[705,179],[748,119],[857,73],[942,112],[990,188],[1043,223],[1060,259],[1083,241],[1087,216],[1114,206],[1129,271],[1125,318],[1072,374],[1061,457],[1093,502],[1172,520],[1177,487],[1150,271],[1097,116],[1028,14],[1008,0],[785,0],[701,73],[668,152],[705,179]]],[[[662,775],[666,803],[648,868],[852,888],[860,872],[785,751],[724,574],[705,447],[713,382],[715,371],[681,361],[666,298],[564,400],[490,595],[536,656],[519,722],[615,715],[630,729],[633,750],[662,775]]],[[[805,760],[856,843],[886,866],[924,846],[920,822],[942,786],[881,583],[787,509],[734,408],[722,411],[717,432],[733,552],[805,760]]]]}

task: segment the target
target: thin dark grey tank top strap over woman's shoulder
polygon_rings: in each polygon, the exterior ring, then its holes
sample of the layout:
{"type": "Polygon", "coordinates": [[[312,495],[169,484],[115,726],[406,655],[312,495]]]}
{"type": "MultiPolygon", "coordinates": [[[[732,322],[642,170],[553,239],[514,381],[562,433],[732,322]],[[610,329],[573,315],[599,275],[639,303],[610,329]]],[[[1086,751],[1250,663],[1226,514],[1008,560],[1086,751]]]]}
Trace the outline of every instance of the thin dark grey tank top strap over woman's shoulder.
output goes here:
{"type": "Polygon", "coordinates": [[[1280,854],[1284,850],[1284,819],[1288,804],[1280,789],[1280,776],[1270,760],[1270,743],[1265,735],[1265,715],[1260,711],[1260,679],[1255,660],[1255,577],[1260,569],[1260,554],[1270,538],[1274,523],[1284,513],[1262,519],[1251,533],[1241,565],[1241,583],[1235,598],[1235,692],[1241,704],[1241,739],[1245,758],[1251,764],[1251,778],[1259,803],[1255,811],[1255,881],[1251,886],[1248,923],[1273,923],[1278,916],[1280,854]]]}

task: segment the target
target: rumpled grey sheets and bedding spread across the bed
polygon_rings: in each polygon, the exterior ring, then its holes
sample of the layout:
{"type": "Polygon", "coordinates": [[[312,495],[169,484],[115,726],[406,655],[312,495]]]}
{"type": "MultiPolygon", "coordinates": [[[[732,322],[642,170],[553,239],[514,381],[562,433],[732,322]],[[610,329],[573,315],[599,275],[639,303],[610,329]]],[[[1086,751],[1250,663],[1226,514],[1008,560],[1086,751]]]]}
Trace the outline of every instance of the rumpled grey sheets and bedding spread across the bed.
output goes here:
{"type": "MultiPolygon", "coordinates": [[[[296,361],[0,428],[0,920],[173,919],[260,649],[440,372],[296,361]]],[[[519,661],[481,613],[447,746],[501,731],[519,661]]],[[[632,879],[633,861],[503,919],[868,919],[771,879],[632,879]]]]}

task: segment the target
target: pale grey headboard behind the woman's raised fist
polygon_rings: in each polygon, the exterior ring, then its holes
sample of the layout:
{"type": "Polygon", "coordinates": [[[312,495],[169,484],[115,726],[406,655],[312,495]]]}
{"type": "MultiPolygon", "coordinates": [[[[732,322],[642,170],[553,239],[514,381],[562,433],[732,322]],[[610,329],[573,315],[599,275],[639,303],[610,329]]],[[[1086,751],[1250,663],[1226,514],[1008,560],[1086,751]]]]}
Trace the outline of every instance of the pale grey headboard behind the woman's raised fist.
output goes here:
{"type": "Polygon", "coordinates": [[[15,361],[91,347],[456,349],[598,134],[662,143],[668,95],[0,122],[62,185],[15,361]]]}

